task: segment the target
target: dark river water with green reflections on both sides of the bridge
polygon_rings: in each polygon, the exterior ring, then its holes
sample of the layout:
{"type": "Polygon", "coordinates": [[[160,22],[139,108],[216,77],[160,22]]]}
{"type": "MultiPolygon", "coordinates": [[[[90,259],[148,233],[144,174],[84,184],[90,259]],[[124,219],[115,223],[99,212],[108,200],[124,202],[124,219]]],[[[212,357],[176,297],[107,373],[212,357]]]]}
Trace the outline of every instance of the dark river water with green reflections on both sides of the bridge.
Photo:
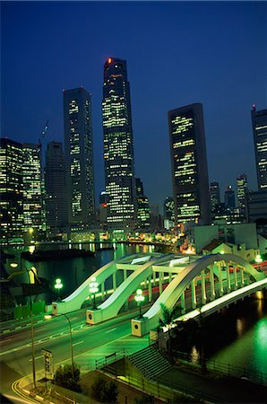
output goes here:
{"type": "MultiPolygon", "coordinates": [[[[105,244],[106,245],[106,244],[105,244]]],[[[61,297],[72,293],[78,285],[90,276],[96,269],[113,259],[134,254],[135,252],[152,252],[153,246],[113,244],[115,250],[97,250],[95,244],[73,245],[73,248],[83,248],[95,252],[94,257],[66,259],[35,263],[39,277],[45,277],[51,290],[56,277],[60,277],[64,285],[61,297]]],[[[112,246],[112,244],[110,244],[112,246]]],[[[49,245],[51,249],[51,245],[49,245]]],[[[55,246],[56,249],[56,246],[55,246]]],[[[26,265],[29,267],[28,265],[26,265]]],[[[266,296],[266,295],[265,295],[266,296]]],[[[47,303],[56,298],[50,293],[44,296],[47,303]]],[[[225,364],[242,366],[248,370],[267,374],[267,301],[262,293],[232,304],[228,309],[213,314],[203,328],[205,355],[211,361],[216,360],[225,364]]],[[[193,339],[180,347],[181,350],[195,356],[200,356],[200,347],[193,339]]]]}

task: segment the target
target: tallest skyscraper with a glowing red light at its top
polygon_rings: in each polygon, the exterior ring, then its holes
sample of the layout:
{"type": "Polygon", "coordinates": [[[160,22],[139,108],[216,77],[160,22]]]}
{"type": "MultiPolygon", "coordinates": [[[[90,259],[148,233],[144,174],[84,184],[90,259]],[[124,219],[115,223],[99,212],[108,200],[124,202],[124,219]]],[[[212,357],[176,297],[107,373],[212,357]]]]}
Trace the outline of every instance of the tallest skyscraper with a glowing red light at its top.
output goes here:
{"type": "Polygon", "coordinates": [[[103,132],[108,230],[136,226],[134,139],[126,61],[109,57],[104,65],[103,132]]]}

